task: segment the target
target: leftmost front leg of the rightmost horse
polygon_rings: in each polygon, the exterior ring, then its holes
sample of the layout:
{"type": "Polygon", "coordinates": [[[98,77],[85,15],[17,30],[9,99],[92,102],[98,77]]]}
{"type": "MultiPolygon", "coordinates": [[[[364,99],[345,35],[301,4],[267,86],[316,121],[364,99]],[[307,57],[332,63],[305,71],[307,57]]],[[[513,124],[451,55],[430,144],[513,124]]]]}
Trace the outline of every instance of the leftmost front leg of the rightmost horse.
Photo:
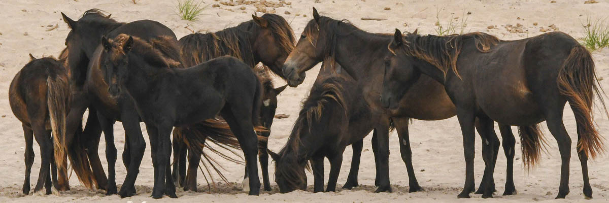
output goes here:
{"type": "Polygon", "coordinates": [[[470,198],[470,193],[476,189],[474,185],[474,114],[469,110],[457,109],[457,118],[463,134],[463,154],[465,154],[465,185],[457,198],[470,198]]]}

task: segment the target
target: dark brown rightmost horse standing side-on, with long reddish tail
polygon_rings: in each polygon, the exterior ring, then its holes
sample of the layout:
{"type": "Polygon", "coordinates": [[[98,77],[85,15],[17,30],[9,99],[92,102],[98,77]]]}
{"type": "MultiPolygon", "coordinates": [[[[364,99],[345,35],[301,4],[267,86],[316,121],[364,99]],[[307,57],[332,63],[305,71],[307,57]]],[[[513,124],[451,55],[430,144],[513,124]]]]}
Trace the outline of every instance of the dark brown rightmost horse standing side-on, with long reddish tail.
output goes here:
{"type": "MultiPolygon", "coordinates": [[[[403,35],[396,29],[387,49],[390,52],[384,57],[381,96],[384,107],[395,108],[395,101],[421,75],[445,85],[456,105],[466,161],[465,187],[459,198],[468,198],[473,188],[474,118],[486,129],[492,129],[493,121],[513,126],[537,126],[546,121],[558,143],[562,162],[556,198],[565,198],[569,193],[571,158],[571,138],[563,124],[566,102],[577,123],[583,194],[586,199],[592,198],[588,157],[594,158],[604,149],[593,123],[594,94],[605,113],[607,109],[591,54],[577,40],[563,32],[503,41],[481,32],[438,37],[403,35]]],[[[534,166],[539,161],[543,137],[521,140],[523,162],[527,168],[534,166]]],[[[488,175],[492,176],[492,172],[488,171],[488,175]]],[[[482,197],[491,195],[487,190],[482,197]]]]}

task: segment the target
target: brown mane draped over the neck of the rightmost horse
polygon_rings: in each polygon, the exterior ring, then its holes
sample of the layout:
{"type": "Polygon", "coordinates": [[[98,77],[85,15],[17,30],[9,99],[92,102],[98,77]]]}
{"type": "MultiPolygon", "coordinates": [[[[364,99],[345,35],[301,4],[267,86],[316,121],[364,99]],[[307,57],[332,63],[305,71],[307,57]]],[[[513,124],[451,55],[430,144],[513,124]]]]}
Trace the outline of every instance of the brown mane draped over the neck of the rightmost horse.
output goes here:
{"type": "MultiPolygon", "coordinates": [[[[452,69],[457,77],[457,58],[463,47],[463,41],[474,40],[476,49],[480,52],[489,52],[490,47],[499,43],[499,38],[482,32],[471,32],[463,35],[406,35],[404,37],[403,51],[407,55],[431,63],[440,69],[446,76],[448,69],[452,69]]],[[[393,50],[390,49],[393,52],[393,50]]],[[[395,54],[395,52],[393,52],[395,54]]]]}

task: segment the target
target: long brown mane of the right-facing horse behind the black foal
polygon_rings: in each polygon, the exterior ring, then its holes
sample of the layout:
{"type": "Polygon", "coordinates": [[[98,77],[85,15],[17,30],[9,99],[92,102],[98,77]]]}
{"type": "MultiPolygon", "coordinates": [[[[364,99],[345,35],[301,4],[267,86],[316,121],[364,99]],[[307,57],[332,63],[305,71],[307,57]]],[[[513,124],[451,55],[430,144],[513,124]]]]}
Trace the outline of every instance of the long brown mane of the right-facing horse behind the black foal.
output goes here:
{"type": "MultiPolygon", "coordinates": [[[[273,37],[280,42],[281,48],[291,52],[294,49],[294,32],[286,20],[270,13],[262,15],[262,18],[267,20],[267,27],[272,30],[273,37]]],[[[250,20],[217,32],[189,34],[180,38],[180,53],[188,66],[231,55],[253,68],[256,62],[250,34],[259,29],[262,27],[250,20]]]]}

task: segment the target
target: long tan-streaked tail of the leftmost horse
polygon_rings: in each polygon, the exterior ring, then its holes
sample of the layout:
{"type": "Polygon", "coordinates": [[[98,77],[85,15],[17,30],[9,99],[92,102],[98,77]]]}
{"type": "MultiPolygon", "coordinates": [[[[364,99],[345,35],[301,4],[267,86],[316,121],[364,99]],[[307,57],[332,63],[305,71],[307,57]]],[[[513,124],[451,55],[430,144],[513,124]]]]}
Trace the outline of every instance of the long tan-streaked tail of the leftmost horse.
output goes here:
{"type": "MultiPolygon", "coordinates": [[[[63,72],[65,73],[65,72],[63,72]]],[[[67,75],[61,75],[57,70],[47,69],[47,104],[51,130],[55,163],[59,171],[67,171],[66,162],[66,116],[70,100],[70,90],[67,75]]]]}

